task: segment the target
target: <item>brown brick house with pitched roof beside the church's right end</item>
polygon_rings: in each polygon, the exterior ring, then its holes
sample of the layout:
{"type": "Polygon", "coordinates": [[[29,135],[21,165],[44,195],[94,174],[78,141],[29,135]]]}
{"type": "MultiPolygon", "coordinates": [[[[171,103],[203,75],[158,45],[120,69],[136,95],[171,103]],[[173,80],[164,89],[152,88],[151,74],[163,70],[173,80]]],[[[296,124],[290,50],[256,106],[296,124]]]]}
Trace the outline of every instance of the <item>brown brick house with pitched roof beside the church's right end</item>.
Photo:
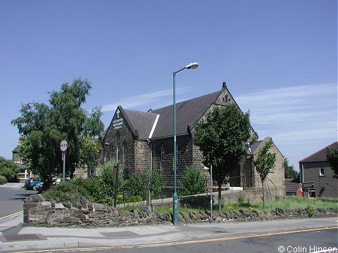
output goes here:
{"type": "Polygon", "coordinates": [[[338,197],[338,180],[326,160],[326,148],[338,149],[338,142],[299,161],[303,197],[338,197]]]}

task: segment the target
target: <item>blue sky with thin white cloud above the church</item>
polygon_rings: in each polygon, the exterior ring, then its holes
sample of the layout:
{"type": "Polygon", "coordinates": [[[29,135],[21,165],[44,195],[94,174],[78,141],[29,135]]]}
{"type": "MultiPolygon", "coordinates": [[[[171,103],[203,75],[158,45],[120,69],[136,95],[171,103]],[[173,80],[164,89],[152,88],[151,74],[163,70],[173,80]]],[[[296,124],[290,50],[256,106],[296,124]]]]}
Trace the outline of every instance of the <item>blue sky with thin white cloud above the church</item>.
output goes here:
{"type": "Polygon", "coordinates": [[[134,110],[218,91],[290,163],[337,141],[337,1],[0,1],[0,155],[11,158],[20,104],[48,102],[74,77],[85,108],[134,110]]]}

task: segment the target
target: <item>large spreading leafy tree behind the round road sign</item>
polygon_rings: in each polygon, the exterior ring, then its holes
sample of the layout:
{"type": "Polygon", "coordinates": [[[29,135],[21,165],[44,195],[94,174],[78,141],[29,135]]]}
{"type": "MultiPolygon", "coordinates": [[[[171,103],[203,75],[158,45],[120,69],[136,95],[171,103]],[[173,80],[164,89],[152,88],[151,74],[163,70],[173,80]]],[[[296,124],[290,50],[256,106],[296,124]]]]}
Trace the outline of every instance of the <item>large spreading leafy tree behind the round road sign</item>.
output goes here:
{"type": "Polygon", "coordinates": [[[94,108],[90,115],[81,108],[90,89],[92,86],[87,79],[63,83],[60,91],[49,92],[50,105],[35,102],[21,105],[21,116],[11,122],[25,137],[20,146],[25,167],[42,176],[46,186],[51,183],[52,176],[61,173],[58,143],[62,138],[68,140],[65,162],[70,178],[73,178],[75,167],[96,164],[97,139],[104,131],[104,124],[100,119],[101,108],[94,108]],[[84,150],[86,155],[83,155],[84,150]]]}

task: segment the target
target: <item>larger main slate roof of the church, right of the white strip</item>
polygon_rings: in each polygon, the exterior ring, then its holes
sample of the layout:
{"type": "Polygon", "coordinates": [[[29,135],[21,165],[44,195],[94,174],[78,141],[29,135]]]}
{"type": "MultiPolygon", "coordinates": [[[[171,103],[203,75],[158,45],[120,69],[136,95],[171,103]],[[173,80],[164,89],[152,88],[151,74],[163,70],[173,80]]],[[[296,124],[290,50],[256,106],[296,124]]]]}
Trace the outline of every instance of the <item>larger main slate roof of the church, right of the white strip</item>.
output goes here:
{"type": "MultiPolygon", "coordinates": [[[[194,124],[204,115],[206,110],[220,96],[223,90],[192,98],[176,103],[176,134],[188,132],[188,126],[194,124]]],[[[173,135],[173,105],[152,110],[151,113],[160,115],[153,134],[153,138],[161,138],[173,135]]]]}

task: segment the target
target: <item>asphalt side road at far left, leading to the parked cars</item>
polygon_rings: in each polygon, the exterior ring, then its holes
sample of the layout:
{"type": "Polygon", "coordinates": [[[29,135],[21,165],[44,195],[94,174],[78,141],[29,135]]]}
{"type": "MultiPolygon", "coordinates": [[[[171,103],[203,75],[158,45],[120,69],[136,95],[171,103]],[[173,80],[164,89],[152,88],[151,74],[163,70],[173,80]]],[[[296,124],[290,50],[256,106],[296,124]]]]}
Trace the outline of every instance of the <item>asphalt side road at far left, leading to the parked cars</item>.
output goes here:
{"type": "Polygon", "coordinates": [[[23,211],[23,200],[35,193],[36,190],[0,187],[0,219],[23,211]]]}

